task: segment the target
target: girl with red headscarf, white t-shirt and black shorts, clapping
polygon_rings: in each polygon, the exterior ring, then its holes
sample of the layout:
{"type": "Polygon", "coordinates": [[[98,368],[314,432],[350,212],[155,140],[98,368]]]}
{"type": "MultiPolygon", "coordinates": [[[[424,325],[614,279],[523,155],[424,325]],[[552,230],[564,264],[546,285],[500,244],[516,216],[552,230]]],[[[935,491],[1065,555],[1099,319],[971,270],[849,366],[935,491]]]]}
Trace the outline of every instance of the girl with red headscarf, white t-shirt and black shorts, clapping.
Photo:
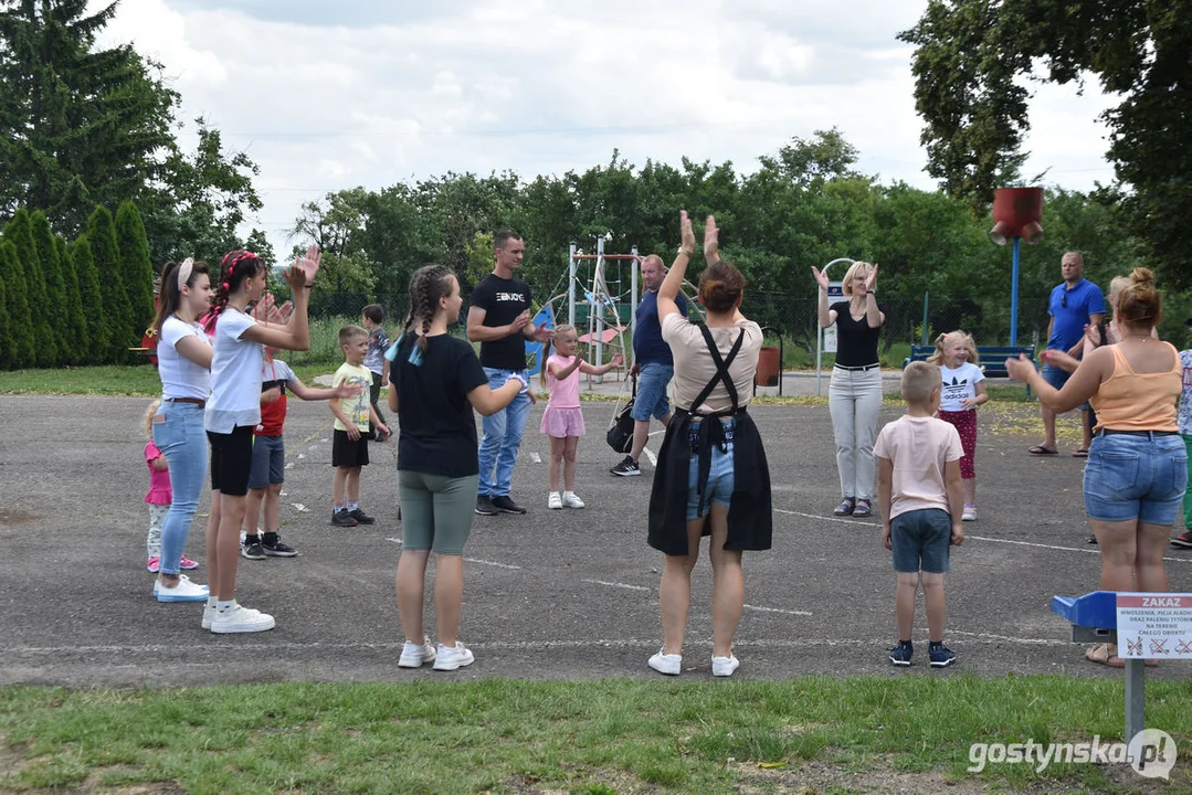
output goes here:
{"type": "Polygon", "coordinates": [[[238,249],[224,255],[219,281],[204,328],[213,339],[211,399],[204,424],[211,443],[211,520],[207,522],[207,569],[211,595],[203,628],[216,633],[261,632],[274,627],[273,616],[236,603],[236,563],[240,526],[253,462],[253,429],[261,421],[263,347],[305,350],[310,344],[306,308],[318,273],[317,246],[306,249],[285,272],[293,292],[287,325],[265,325],[248,315],[249,304],[265,293],[267,268],[238,249]]]}

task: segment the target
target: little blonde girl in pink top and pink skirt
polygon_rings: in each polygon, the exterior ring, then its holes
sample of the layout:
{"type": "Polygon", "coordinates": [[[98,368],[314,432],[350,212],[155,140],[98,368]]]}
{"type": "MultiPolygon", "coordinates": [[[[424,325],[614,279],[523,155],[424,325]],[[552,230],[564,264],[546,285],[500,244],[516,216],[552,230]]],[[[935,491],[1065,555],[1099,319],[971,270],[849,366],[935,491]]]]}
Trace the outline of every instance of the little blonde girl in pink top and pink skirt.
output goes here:
{"type": "Polygon", "coordinates": [[[542,366],[541,380],[551,393],[542,414],[542,433],[551,437],[551,496],[546,507],[551,509],[583,508],[584,501],[576,496],[576,448],[584,435],[584,415],[579,409],[579,373],[603,375],[620,367],[621,354],[607,365],[589,365],[579,353],[579,337],[573,325],[555,327],[555,353],[542,366]],[[563,465],[564,491],[559,493],[559,465],[563,465]]]}

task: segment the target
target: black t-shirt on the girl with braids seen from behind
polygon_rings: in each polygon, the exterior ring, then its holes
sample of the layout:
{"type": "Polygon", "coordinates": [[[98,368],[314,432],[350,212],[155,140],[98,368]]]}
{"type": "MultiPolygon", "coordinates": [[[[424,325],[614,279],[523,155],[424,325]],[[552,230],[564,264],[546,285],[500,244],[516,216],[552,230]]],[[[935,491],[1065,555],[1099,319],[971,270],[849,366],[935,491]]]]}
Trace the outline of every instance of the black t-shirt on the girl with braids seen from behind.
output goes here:
{"type": "Polygon", "coordinates": [[[477,474],[476,417],[467,393],[489,379],[472,346],[449,334],[427,337],[422,364],[410,364],[417,335],[406,334],[390,367],[397,390],[397,468],[464,478],[477,474]]]}

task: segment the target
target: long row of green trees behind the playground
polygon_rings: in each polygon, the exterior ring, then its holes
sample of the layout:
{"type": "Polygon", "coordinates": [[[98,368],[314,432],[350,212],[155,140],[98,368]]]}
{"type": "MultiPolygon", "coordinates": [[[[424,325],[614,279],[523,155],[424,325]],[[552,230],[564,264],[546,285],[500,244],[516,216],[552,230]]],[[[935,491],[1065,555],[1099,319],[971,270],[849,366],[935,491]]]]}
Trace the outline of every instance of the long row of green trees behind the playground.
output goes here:
{"type": "MultiPolygon", "coordinates": [[[[615,153],[603,166],[530,181],[514,173],[446,174],[380,191],[329,193],[303,207],[293,232],[324,251],[328,290],[378,294],[402,311],[410,274],[443,262],[465,290],[491,269],[491,231],[517,230],[527,241],[522,274],[535,296],[566,288],[567,247],[670,259],[678,246],[678,210],[696,223],[708,213],[722,229],[721,250],[750,280],[746,311],[805,344],[815,330],[812,266],[840,256],[879,262],[887,339],[911,341],[921,331],[924,296],[937,331],[963,327],[995,343],[1010,334],[1007,248],[989,242],[988,212],[942,192],[881,184],[856,169],[857,151],[837,130],[793,138],[759,159],[750,174],[733,164],[683,160],[678,167],[647,161],[635,167],[615,153]]],[[[1144,261],[1144,242],[1128,234],[1098,195],[1047,191],[1047,236],[1024,247],[1019,339],[1047,328],[1047,297],[1061,278],[1066,250],[1085,253],[1088,278],[1105,284],[1144,261]]],[[[839,278],[843,272],[833,272],[839,278]]],[[[627,285],[626,285],[627,286],[627,285]]],[[[1182,297],[1172,296],[1184,302],[1182,297]]],[[[325,292],[316,300],[327,302],[325,292]]],[[[1179,312],[1169,312],[1174,323],[1179,312]]]]}

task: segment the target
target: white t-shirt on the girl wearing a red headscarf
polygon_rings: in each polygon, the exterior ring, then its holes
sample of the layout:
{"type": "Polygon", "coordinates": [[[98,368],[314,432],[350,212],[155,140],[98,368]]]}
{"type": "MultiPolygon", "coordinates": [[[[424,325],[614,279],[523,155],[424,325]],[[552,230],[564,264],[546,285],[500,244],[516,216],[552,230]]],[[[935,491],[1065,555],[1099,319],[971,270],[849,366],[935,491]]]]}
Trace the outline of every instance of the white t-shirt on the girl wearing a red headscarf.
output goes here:
{"type": "Polygon", "coordinates": [[[236,426],[255,427],[261,422],[261,368],[265,348],[242,340],[256,321],[228,306],[216,322],[211,346],[211,399],[203,417],[207,430],[230,434],[236,426]]]}

